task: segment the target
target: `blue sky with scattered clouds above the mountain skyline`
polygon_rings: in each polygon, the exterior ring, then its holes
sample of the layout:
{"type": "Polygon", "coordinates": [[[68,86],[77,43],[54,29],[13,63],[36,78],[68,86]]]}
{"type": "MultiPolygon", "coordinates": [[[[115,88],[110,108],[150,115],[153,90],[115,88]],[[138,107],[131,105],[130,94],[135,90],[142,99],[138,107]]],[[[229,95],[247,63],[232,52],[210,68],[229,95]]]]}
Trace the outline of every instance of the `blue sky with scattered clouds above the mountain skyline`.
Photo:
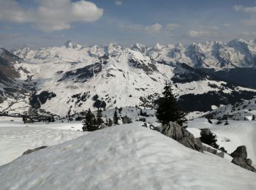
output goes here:
{"type": "Polygon", "coordinates": [[[255,0],[0,0],[0,46],[256,38],[255,0]]]}

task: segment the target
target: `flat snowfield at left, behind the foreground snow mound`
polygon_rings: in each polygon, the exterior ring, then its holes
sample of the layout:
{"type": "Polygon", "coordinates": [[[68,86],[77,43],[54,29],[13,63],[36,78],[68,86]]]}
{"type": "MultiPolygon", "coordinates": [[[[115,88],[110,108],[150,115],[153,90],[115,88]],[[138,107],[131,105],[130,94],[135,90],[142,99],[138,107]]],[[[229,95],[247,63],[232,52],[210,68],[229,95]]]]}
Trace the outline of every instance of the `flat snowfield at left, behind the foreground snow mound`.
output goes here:
{"type": "Polygon", "coordinates": [[[21,118],[0,117],[0,165],[31,148],[56,145],[80,137],[81,123],[26,123],[21,118]]]}

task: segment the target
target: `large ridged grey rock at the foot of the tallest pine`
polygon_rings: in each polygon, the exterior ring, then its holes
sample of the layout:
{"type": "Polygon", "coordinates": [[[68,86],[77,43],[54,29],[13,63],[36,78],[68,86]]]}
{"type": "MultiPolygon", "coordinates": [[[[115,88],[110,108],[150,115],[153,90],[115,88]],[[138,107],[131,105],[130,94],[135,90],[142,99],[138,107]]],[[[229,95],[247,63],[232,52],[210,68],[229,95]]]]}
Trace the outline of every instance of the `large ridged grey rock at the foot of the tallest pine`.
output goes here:
{"type": "Polygon", "coordinates": [[[172,138],[173,140],[180,142],[182,145],[185,145],[188,148],[192,148],[193,150],[203,153],[202,142],[177,123],[170,122],[165,124],[162,126],[161,133],[172,138]]]}

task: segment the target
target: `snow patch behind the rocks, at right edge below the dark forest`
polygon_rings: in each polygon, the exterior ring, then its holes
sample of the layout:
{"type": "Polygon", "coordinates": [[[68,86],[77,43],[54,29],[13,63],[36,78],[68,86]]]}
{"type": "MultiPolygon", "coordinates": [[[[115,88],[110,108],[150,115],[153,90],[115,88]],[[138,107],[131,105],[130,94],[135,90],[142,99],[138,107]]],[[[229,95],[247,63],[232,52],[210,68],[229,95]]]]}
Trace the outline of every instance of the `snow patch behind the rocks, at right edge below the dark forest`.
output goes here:
{"type": "Polygon", "coordinates": [[[213,124],[208,123],[206,118],[196,118],[189,121],[188,130],[198,136],[195,129],[211,129],[211,132],[217,134],[217,144],[224,147],[227,153],[233,153],[238,146],[245,145],[248,158],[252,159],[252,165],[256,165],[256,121],[228,121],[230,124],[224,126],[215,124],[217,121],[212,120],[213,124]]]}

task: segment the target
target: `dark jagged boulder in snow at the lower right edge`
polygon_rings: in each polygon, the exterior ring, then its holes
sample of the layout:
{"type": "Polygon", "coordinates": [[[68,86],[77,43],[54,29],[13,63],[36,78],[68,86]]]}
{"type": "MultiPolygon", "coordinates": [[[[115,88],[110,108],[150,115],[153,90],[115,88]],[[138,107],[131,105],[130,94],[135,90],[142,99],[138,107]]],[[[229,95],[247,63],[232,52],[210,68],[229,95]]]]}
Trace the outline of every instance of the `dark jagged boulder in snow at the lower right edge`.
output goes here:
{"type": "Polygon", "coordinates": [[[230,156],[233,157],[233,160],[232,160],[233,164],[243,167],[246,170],[256,172],[255,167],[252,167],[252,160],[247,159],[246,146],[244,145],[239,146],[238,148],[236,148],[236,151],[233,151],[233,153],[230,153],[230,156]]]}

